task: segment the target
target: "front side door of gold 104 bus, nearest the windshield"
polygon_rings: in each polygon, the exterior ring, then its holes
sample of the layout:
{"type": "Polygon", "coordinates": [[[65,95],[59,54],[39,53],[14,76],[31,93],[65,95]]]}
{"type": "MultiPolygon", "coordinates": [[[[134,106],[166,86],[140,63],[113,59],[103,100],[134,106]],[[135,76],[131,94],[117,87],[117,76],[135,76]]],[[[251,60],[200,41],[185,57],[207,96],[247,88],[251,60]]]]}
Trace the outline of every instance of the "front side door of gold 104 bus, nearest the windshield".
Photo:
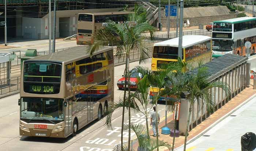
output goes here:
{"type": "Polygon", "coordinates": [[[72,98],[67,99],[65,106],[65,136],[72,132],[72,98]]]}

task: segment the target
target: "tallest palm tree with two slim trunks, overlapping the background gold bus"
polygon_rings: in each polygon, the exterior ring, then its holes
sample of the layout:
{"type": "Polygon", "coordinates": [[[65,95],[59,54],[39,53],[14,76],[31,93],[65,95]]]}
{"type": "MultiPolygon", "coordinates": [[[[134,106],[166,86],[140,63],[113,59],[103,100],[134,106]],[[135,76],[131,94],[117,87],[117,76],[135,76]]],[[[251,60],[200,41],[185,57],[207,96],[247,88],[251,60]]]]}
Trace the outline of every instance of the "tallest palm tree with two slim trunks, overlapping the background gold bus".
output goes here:
{"type": "MultiPolygon", "coordinates": [[[[125,56],[125,88],[128,84],[129,88],[129,60],[130,60],[130,51],[137,50],[140,53],[140,61],[139,63],[145,63],[147,59],[150,57],[148,54],[147,37],[144,33],[150,33],[150,40],[153,40],[154,37],[154,27],[151,26],[148,22],[146,22],[145,18],[143,17],[144,14],[137,15],[137,14],[130,14],[128,16],[128,22],[122,24],[116,24],[115,22],[108,22],[105,24],[104,28],[98,30],[92,36],[93,44],[87,47],[87,53],[91,55],[102,48],[103,46],[107,46],[109,44],[115,44],[117,52],[115,57],[120,59],[121,57],[125,56]]],[[[130,90],[129,95],[130,95],[130,90]]],[[[126,101],[126,89],[124,90],[124,98],[123,101],[126,101]]],[[[128,96],[128,98],[130,98],[128,96]]],[[[128,103],[130,101],[128,100],[128,103]]],[[[124,103],[125,104],[125,103],[124,103]]],[[[131,110],[128,107],[129,116],[131,114],[131,110]]],[[[122,117],[122,129],[121,129],[121,143],[123,143],[123,129],[124,129],[124,112],[125,106],[123,106],[123,117],[122,117]]],[[[130,117],[129,117],[130,119],[130,117]]],[[[130,120],[129,120],[130,123],[130,120]]],[[[130,140],[130,133],[128,141],[130,140]]]]}

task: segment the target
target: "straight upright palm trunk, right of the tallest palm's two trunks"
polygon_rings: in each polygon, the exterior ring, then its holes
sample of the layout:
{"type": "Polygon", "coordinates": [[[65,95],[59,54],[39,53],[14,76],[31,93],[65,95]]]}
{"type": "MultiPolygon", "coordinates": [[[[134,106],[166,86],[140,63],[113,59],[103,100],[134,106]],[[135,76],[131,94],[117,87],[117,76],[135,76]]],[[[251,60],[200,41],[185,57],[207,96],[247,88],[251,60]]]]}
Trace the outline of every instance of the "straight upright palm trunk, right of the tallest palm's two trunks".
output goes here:
{"type": "Polygon", "coordinates": [[[129,54],[126,55],[126,59],[127,59],[127,82],[128,82],[128,151],[130,150],[130,146],[131,146],[131,107],[130,107],[130,97],[131,97],[131,89],[130,89],[130,72],[129,72],[129,63],[130,63],[130,58],[129,58],[129,54]]]}

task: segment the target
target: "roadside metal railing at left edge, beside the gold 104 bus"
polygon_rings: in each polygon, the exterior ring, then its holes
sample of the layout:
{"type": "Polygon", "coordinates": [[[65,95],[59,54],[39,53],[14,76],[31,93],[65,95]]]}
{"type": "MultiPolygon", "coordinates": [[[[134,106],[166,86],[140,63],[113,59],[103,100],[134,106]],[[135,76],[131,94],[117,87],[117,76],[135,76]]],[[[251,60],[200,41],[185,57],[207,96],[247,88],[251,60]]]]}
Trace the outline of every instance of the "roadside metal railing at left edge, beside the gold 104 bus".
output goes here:
{"type": "Polygon", "coordinates": [[[20,77],[0,80],[0,95],[19,90],[20,77]]]}

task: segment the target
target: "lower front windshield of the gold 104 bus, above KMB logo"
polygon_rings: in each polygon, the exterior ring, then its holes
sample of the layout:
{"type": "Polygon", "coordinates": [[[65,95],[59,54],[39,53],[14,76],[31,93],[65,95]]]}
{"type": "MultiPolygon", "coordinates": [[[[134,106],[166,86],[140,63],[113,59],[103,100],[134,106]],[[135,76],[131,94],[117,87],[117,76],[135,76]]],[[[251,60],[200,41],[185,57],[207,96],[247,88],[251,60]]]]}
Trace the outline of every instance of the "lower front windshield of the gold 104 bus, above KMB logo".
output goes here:
{"type": "Polygon", "coordinates": [[[20,118],[28,120],[64,120],[63,99],[21,98],[20,118]]]}

